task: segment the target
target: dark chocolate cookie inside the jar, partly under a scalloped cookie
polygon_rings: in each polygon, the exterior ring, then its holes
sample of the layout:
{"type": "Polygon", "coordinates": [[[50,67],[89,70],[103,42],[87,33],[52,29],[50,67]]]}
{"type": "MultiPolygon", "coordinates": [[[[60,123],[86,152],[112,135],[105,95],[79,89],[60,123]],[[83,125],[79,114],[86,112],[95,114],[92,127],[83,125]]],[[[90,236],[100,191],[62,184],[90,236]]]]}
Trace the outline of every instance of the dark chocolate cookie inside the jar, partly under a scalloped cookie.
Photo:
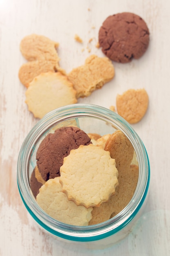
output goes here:
{"type": "Polygon", "coordinates": [[[37,166],[43,180],[60,176],[63,159],[72,149],[88,145],[91,139],[81,129],[66,126],[49,133],[41,142],[37,154],[37,166]]]}

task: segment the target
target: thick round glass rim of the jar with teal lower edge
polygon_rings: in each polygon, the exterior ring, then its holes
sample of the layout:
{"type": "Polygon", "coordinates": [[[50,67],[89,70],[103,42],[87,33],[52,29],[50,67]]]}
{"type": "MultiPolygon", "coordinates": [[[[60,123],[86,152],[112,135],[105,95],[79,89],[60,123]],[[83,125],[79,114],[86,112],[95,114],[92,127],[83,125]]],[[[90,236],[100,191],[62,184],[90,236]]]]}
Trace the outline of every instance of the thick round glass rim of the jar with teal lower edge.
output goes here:
{"type": "Polygon", "coordinates": [[[76,103],[57,108],[46,114],[28,133],[20,148],[18,156],[18,189],[26,209],[33,219],[38,222],[41,227],[46,229],[46,231],[68,240],[94,241],[117,233],[117,231],[121,230],[136,216],[141,208],[148,193],[149,181],[150,166],[148,155],[143,142],[135,130],[117,113],[93,104],[76,103]],[[124,132],[134,146],[139,163],[139,180],[137,188],[128,205],[110,220],[91,226],[73,226],[53,219],[39,207],[29,186],[29,160],[33,154],[33,148],[41,135],[44,134],[44,132],[47,132],[50,127],[53,127],[56,124],[56,120],[60,123],[61,121],[76,117],[95,117],[112,124],[124,132]]]}

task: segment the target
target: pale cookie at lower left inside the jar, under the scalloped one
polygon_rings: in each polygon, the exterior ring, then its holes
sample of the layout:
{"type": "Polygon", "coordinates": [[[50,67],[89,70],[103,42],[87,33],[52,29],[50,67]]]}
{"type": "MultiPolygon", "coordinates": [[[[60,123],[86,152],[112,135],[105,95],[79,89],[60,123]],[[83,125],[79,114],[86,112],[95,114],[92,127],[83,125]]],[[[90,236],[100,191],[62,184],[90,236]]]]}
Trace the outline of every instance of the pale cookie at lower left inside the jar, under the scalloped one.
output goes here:
{"type": "Polygon", "coordinates": [[[86,226],[92,218],[92,207],[87,209],[84,206],[77,206],[67,199],[66,194],[62,192],[59,177],[50,179],[42,185],[36,200],[49,216],[69,225],[86,226]]]}

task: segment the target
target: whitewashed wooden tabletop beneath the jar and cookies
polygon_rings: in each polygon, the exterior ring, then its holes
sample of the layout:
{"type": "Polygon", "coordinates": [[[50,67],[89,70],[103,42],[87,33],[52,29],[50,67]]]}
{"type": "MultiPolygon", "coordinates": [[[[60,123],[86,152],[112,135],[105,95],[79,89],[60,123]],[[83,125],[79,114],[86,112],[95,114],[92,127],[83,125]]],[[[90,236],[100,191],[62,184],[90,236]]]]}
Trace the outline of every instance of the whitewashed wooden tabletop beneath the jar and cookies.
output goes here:
{"type": "Polygon", "coordinates": [[[170,255],[169,11],[169,0],[0,0],[0,256],[170,255]],[[150,158],[148,203],[137,226],[121,243],[102,251],[66,248],[36,225],[18,193],[18,153],[38,121],[24,103],[26,88],[18,79],[18,70],[25,62],[19,44],[32,33],[59,42],[60,66],[69,72],[82,65],[90,54],[104,56],[95,47],[99,27],[109,15],[124,11],[136,13],[146,21],[150,29],[148,50],[131,63],[113,63],[113,81],[90,97],[79,99],[79,103],[109,108],[115,106],[118,93],[130,88],[146,89],[149,108],[133,128],[150,158]],[[74,40],[75,34],[83,44],[74,40]]]}

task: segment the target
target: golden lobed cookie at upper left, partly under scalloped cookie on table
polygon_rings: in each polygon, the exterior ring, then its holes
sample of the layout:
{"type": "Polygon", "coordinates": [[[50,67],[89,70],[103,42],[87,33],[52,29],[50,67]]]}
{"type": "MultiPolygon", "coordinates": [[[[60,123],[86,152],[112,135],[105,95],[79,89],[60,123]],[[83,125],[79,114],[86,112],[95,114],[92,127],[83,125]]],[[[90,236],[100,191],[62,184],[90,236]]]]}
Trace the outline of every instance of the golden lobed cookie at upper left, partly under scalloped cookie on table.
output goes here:
{"type": "Polygon", "coordinates": [[[19,70],[19,79],[23,85],[29,86],[29,83],[35,76],[44,72],[64,73],[59,66],[59,57],[57,54],[58,43],[49,38],[37,34],[25,36],[20,43],[20,51],[28,63],[24,63],[19,70]]]}

